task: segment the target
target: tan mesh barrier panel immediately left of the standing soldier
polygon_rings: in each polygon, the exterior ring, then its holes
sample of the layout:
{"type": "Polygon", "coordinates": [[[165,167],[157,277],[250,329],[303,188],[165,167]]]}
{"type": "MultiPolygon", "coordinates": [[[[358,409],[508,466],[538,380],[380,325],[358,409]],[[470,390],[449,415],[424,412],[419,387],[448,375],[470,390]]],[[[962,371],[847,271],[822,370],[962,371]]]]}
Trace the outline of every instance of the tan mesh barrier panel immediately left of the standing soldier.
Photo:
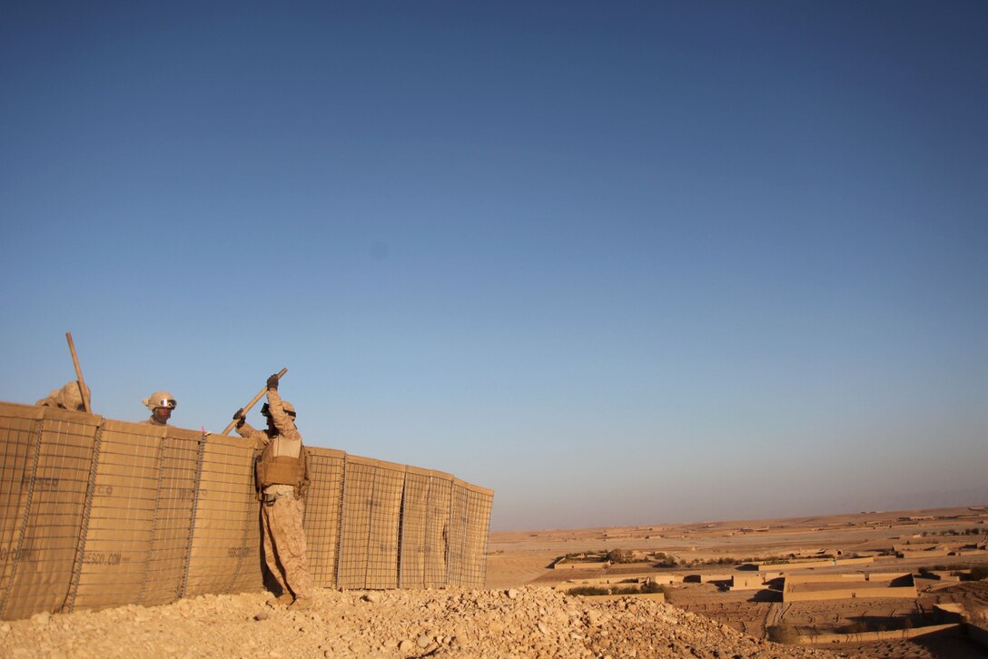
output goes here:
{"type": "Polygon", "coordinates": [[[206,439],[186,597],[263,583],[253,445],[225,435],[206,439]]]}

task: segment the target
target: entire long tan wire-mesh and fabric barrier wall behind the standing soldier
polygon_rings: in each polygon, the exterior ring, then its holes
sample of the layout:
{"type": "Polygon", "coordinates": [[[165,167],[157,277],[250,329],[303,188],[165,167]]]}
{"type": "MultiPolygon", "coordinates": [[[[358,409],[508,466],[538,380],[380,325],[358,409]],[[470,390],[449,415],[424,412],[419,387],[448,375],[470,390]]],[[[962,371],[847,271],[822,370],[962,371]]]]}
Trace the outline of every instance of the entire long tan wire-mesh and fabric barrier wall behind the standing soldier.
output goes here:
{"type": "MultiPolygon", "coordinates": [[[[317,586],[483,587],[494,493],[309,446],[317,586]]],[[[0,403],[0,619],[263,585],[253,443],[0,403]]]]}

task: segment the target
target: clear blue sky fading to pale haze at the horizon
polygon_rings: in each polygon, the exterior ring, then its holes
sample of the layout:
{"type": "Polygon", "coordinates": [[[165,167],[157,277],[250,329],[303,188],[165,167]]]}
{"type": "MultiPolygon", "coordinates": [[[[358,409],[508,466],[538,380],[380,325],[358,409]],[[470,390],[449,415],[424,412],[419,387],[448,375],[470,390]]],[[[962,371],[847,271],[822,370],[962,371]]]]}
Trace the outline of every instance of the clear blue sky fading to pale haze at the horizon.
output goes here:
{"type": "Polygon", "coordinates": [[[988,4],[3,2],[0,400],[495,491],[988,503],[988,4]],[[252,412],[250,420],[260,425],[252,412]]]}

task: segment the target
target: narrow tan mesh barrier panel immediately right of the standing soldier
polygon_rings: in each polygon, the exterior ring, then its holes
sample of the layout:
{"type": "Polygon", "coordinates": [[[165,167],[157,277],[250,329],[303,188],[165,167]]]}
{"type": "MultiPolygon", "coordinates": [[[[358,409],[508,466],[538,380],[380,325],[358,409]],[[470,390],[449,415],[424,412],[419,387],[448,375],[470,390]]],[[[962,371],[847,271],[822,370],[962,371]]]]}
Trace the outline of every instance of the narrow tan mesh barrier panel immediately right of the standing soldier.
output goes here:
{"type": "Polygon", "coordinates": [[[305,497],[306,555],[316,586],[336,586],[336,550],[343,506],[343,472],[346,453],[309,449],[309,486],[305,497]]]}

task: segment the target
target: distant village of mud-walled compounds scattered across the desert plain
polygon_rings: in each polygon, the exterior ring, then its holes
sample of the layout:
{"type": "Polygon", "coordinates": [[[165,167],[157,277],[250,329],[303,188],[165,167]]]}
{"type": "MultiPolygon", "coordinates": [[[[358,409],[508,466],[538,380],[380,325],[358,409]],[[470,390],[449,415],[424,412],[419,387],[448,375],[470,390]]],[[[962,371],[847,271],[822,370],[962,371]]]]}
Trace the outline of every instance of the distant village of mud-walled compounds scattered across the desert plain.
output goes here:
{"type": "Polygon", "coordinates": [[[554,532],[601,548],[558,556],[533,585],[659,599],[783,642],[984,634],[988,509],[854,518],[554,532]],[[980,590],[952,597],[951,584],[980,590]]]}

